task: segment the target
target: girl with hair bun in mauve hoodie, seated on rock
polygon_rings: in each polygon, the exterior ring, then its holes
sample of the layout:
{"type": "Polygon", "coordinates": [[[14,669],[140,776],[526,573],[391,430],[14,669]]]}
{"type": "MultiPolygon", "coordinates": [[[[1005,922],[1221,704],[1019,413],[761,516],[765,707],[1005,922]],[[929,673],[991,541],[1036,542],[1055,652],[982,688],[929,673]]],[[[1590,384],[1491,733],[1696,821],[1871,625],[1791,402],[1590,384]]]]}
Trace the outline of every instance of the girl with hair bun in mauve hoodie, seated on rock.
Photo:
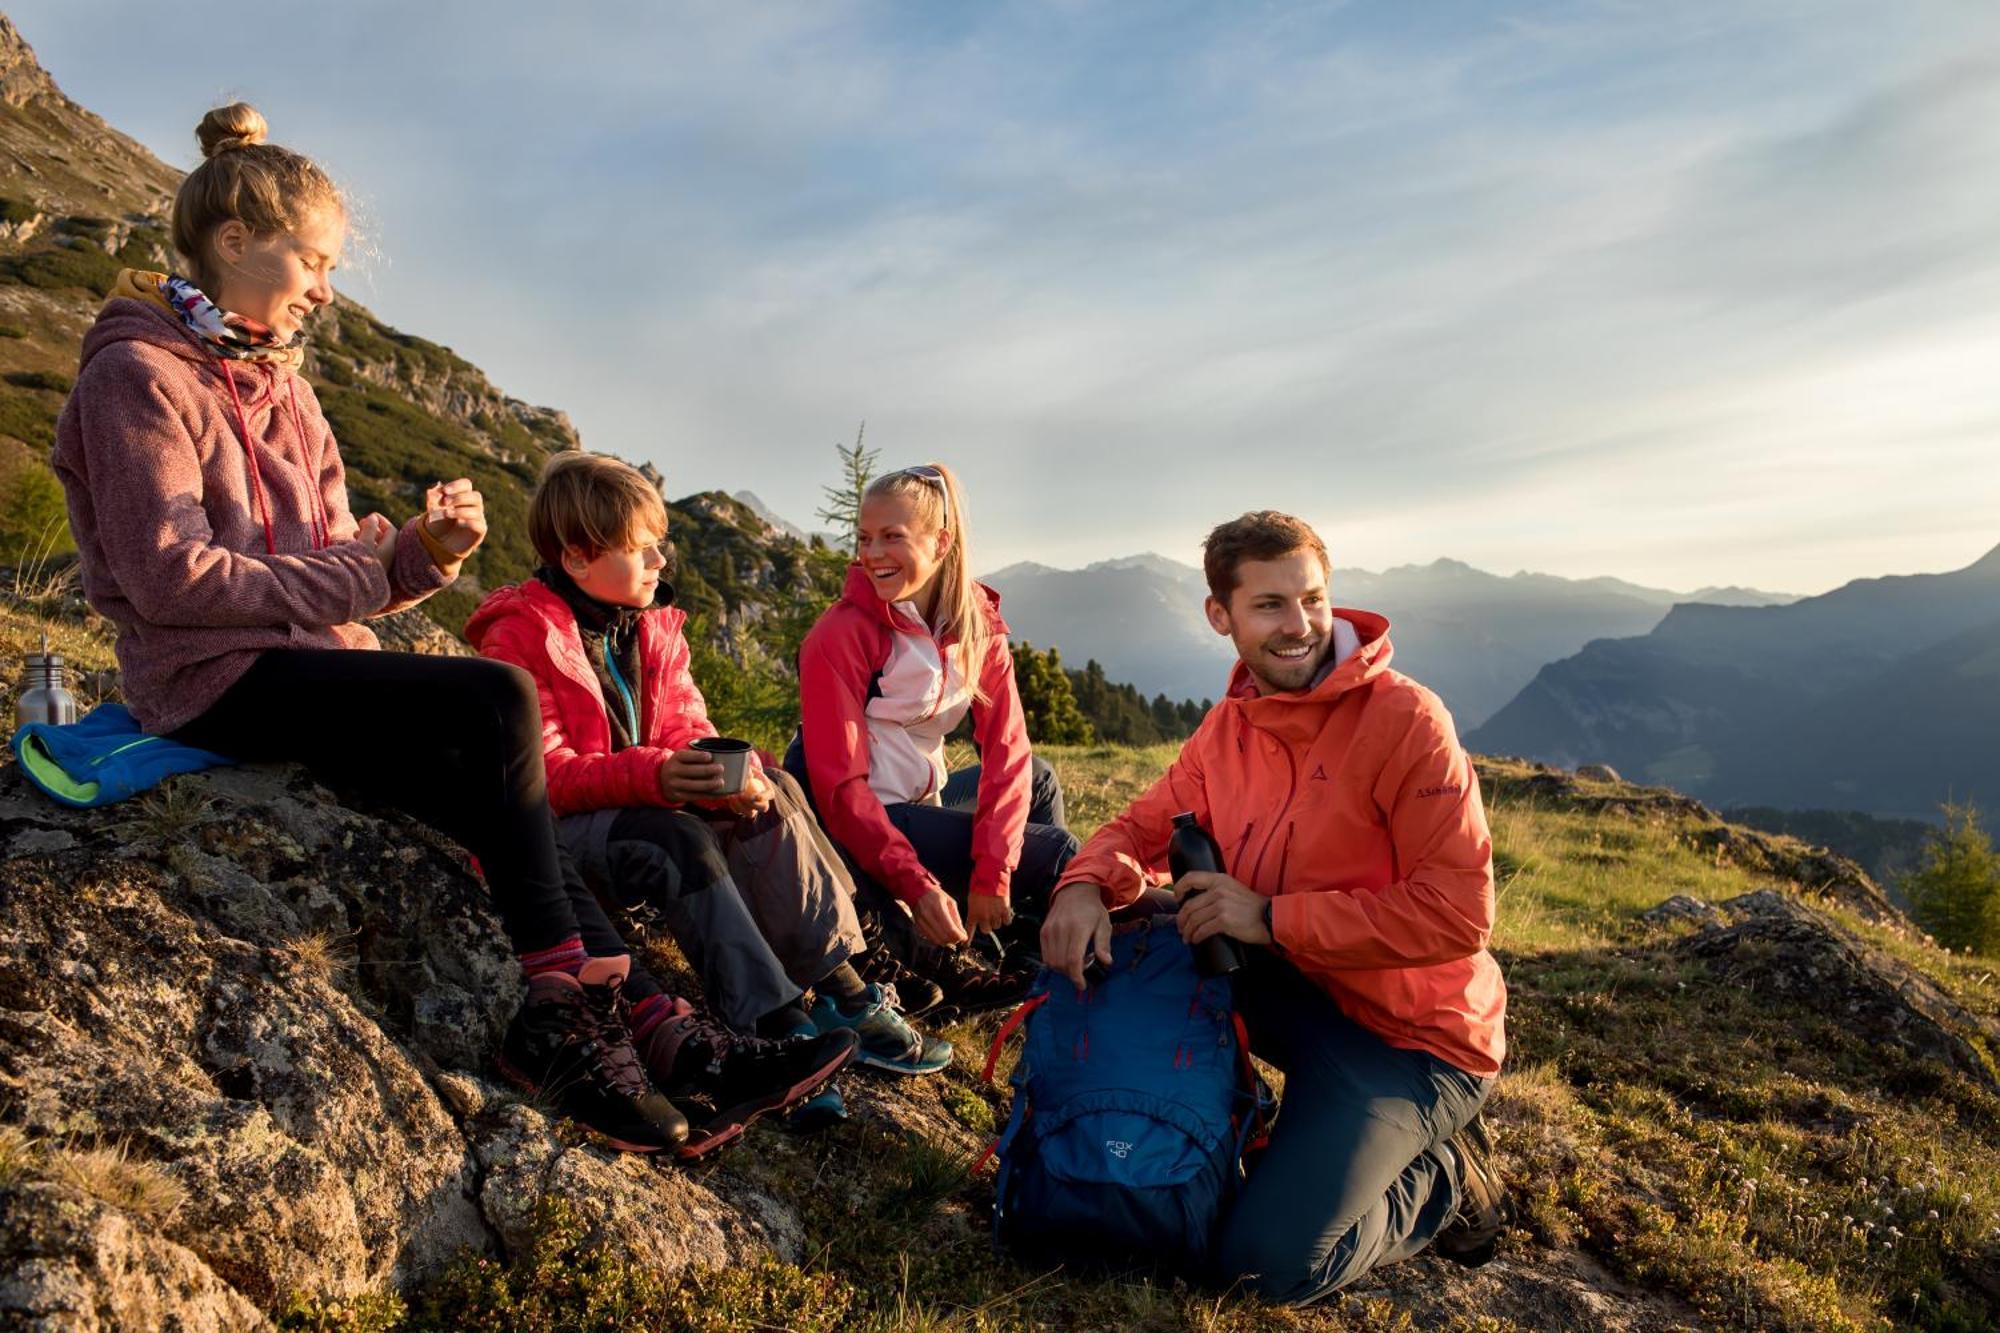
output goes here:
{"type": "Polygon", "coordinates": [[[340,194],[264,144],[250,106],[196,134],[206,160],[174,198],[192,280],[120,274],[56,422],[84,596],[118,626],[126,703],[154,735],[306,763],[464,843],[528,973],[502,1069],[618,1147],[676,1147],[686,1119],[614,1033],[624,947],[558,861],[534,683],[356,650],[378,648],[362,618],[452,580],[486,514],[464,478],[400,528],[348,510],[298,374],[302,324],[334,298],[340,194]]]}

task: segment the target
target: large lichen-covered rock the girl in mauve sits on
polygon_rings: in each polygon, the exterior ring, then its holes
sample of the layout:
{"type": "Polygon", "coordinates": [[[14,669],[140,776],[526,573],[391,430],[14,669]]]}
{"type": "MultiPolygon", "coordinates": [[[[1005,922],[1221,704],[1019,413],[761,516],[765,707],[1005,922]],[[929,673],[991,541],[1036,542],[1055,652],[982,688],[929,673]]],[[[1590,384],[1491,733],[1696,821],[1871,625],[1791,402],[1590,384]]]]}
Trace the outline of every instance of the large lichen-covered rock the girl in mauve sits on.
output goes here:
{"type": "Polygon", "coordinates": [[[0,1323],[242,1327],[514,1253],[544,1197],[664,1273],[800,1257],[786,1205],[490,1083],[518,991],[464,855],[300,771],[88,813],[0,769],[0,1133],[42,1163],[0,1171],[0,1323]],[[92,1197],[76,1151],[170,1203],[92,1197]]]}

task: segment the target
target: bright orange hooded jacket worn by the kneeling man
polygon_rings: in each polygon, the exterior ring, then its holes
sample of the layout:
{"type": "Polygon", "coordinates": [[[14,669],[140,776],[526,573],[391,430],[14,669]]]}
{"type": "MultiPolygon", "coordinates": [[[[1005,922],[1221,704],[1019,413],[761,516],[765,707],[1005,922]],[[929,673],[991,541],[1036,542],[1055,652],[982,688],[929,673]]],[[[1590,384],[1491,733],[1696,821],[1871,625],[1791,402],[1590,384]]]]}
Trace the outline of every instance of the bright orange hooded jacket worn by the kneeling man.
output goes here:
{"type": "Polygon", "coordinates": [[[1258,695],[1238,662],[1174,765],[1098,829],[1062,885],[1132,903],[1166,873],[1174,815],[1194,811],[1228,875],[1274,899],[1280,953],[1344,1015],[1392,1047],[1496,1075],[1506,983],[1486,953],[1478,779],[1438,697],[1388,669],[1388,620],[1334,614],[1358,648],[1298,693],[1258,695]]]}

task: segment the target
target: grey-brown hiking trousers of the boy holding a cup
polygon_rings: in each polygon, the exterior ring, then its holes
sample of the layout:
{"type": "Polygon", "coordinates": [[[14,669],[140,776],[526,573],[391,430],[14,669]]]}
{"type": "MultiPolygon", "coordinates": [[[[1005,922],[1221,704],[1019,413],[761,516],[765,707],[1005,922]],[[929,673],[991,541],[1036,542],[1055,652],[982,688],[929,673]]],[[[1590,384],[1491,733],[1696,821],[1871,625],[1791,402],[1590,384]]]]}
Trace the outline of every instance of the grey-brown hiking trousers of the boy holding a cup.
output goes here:
{"type": "Polygon", "coordinates": [[[708,1007],[744,1033],[864,949],[840,855],[798,785],[766,777],[776,793],[752,819],[634,807],[556,823],[598,899],[658,917],[708,1007]]]}

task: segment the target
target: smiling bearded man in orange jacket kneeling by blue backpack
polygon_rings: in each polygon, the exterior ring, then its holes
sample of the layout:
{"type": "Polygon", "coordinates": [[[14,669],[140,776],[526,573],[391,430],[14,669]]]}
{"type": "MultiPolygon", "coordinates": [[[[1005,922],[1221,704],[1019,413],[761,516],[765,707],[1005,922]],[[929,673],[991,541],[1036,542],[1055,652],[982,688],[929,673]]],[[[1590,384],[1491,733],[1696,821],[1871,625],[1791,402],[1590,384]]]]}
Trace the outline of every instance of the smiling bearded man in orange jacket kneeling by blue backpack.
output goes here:
{"type": "Polygon", "coordinates": [[[1436,695],[1388,669],[1388,620],[1328,600],[1318,534],[1262,510],[1204,542],[1208,622],[1240,656],[1174,765],[1070,861],[1044,961],[1084,985],[1110,913],[1194,811],[1226,873],[1174,895],[1188,943],[1248,949],[1236,1005],[1284,1113],[1222,1221],[1220,1277],[1308,1303],[1426,1245],[1492,1257],[1504,1193],[1478,1109],[1506,1055],[1486,953],[1492,839],[1436,695]]]}

